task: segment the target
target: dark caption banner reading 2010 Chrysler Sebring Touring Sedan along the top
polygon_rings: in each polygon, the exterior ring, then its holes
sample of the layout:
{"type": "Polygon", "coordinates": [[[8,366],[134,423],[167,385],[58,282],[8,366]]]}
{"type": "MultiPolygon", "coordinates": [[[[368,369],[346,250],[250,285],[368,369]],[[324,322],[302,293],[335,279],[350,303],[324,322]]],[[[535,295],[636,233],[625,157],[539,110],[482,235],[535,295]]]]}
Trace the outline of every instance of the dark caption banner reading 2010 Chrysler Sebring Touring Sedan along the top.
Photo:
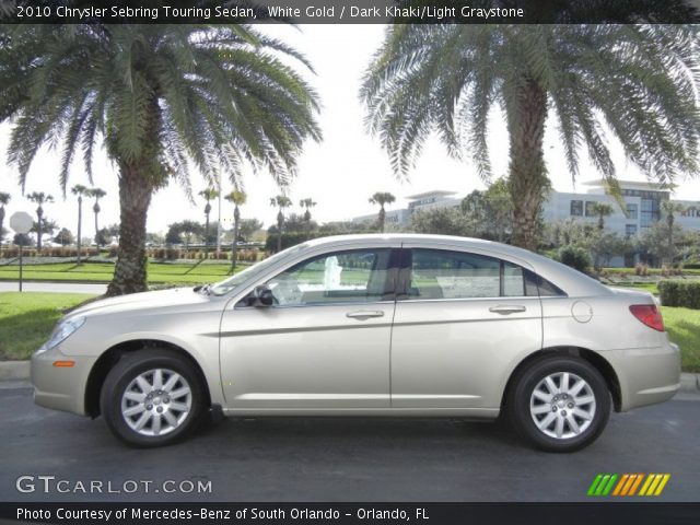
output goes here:
{"type": "Polygon", "coordinates": [[[0,0],[12,24],[685,24],[693,0],[0,0]]]}

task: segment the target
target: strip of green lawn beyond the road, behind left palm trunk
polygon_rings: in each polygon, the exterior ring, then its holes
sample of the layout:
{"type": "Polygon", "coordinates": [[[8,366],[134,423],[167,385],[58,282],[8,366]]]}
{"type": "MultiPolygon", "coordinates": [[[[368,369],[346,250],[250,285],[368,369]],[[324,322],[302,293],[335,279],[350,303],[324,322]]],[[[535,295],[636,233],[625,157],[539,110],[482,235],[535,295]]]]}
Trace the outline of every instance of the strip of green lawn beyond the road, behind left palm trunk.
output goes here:
{"type": "MultiPolygon", "coordinates": [[[[230,264],[164,264],[149,262],[149,283],[201,284],[217,282],[229,277],[230,264]]],[[[236,270],[246,268],[238,264],[236,270]]],[[[114,265],[85,262],[77,266],[72,262],[45,264],[25,266],[23,278],[33,281],[70,281],[70,282],[109,282],[114,275],[114,265]]],[[[18,280],[20,269],[16,265],[0,266],[0,280],[18,280]]]]}

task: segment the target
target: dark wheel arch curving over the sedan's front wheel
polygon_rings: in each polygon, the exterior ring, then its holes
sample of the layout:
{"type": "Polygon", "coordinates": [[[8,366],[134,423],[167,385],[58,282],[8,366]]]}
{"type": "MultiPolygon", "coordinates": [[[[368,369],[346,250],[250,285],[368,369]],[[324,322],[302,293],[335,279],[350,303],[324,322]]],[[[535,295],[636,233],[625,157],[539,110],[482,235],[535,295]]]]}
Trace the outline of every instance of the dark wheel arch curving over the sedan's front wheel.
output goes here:
{"type": "Polygon", "coordinates": [[[166,350],[171,350],[179,355],[186,358],[192,365],[192,370],[198,375],[200,383],[205,389],[205,404],[206,406],[211,405],[211,394],[209,392],[209,383],[207,382],[207,377],[205,373],[197,362],[197,360],[184,348],[163,340],[159,339],[133,339],[129,341],[119,342],[110,348],[108,348],[97,361],[92,366],[90,371],[90,375],[88,376],[88,382],[85,385],[85,399],[84,407],[85,413],[91,418],[96,418],[100,416],[100,392],[102,386],[104,385],[105,378],[109,371],[119,362],[119,360],[132,352],[138,352],[139,350],[144,350],[148,348],[163,348],[166,350]]]}

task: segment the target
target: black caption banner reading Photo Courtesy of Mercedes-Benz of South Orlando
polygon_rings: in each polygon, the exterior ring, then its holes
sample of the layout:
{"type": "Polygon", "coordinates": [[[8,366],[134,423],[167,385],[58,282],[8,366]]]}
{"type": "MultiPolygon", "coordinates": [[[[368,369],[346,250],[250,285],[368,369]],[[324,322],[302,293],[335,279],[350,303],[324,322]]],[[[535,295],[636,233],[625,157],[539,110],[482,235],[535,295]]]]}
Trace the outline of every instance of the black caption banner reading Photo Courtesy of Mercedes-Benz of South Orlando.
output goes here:
{"type": "Polygon", "coordinates": [[[696,524],[700,503],[0,503],[2,523],[696,524]]]}

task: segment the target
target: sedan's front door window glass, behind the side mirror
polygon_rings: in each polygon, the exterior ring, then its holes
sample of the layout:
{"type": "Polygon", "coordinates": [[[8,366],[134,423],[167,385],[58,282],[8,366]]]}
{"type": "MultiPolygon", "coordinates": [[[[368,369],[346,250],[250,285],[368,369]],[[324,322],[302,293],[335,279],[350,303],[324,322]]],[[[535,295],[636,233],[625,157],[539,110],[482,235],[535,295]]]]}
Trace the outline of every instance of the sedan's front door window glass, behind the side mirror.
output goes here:
{"type": "Polygon", "coordinates": [[[300,262],[267,282],[281,306],[381,301],[390,249],[326,254],[300,262]]]}

